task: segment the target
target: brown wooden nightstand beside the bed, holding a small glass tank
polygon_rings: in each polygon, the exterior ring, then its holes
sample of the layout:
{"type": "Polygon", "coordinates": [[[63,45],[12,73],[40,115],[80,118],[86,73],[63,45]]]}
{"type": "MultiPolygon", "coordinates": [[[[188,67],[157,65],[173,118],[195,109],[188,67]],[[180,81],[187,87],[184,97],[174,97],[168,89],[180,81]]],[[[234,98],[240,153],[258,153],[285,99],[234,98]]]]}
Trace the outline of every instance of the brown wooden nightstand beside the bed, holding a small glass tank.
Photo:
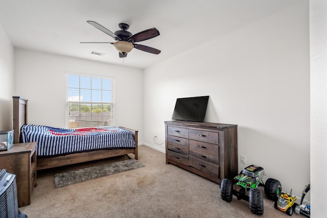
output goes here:
{"type": "Polygon", "coordinates": [[[0,151],[0,169],[16,175],[18,207],[30,205],[36,186],[36,143],[18,143],[0,151]]]}

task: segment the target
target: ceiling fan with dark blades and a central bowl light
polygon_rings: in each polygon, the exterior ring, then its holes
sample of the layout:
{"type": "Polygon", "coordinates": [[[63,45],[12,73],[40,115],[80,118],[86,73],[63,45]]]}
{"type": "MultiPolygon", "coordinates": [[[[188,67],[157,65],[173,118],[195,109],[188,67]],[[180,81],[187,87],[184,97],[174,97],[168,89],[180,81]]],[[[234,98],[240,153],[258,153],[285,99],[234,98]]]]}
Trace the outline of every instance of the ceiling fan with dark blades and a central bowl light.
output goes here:
{"type": "Polygon", "coordinates": [[[149,52],[152,54],[159,54],[161,51],[149,46],[135,44],[134,42],[148,40],[160,35],[159,31],[156,28],[150,28],[144,31],[141,31],[136,34],[128,32],[129,25],[125,23],[120,23],[118,26],[121,30],[115,31],[114,33],[108,30],[107,28],[101,26],[95,21],[88,20],[88,24],[94,26],[98,30],[104,32],[111,36],[115,42],[80,42],[80,43],[110,43],[119,51],[119,57],[127,57],[127,53],[130,52],[133,48],[149,52]]]}

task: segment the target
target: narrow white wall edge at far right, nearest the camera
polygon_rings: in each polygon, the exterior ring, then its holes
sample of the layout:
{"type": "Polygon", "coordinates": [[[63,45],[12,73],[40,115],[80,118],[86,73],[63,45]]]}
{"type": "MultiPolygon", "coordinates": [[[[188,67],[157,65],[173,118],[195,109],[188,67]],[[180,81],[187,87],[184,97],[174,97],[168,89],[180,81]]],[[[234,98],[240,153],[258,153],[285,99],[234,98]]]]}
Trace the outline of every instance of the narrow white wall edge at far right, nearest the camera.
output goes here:
{"type": "Polygon", "coordinates": [[[327,2],[310,1],[311,217],[326,217],[327,2]]]}

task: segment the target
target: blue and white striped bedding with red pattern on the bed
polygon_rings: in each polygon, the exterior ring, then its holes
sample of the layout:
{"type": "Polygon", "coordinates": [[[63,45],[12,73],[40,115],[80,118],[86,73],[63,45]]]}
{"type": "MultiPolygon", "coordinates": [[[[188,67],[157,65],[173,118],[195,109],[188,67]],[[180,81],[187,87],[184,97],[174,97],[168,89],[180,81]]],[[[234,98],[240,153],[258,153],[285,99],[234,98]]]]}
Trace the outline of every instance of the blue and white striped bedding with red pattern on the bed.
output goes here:
{"type": "Polygon", "coordinates": [[[125,129],[105,126],[64,129],[26,124],[21,127],[22,142],[37,142],[37,156],[60,156],[75,152],[135,148],[133,135],[125,129]]]}

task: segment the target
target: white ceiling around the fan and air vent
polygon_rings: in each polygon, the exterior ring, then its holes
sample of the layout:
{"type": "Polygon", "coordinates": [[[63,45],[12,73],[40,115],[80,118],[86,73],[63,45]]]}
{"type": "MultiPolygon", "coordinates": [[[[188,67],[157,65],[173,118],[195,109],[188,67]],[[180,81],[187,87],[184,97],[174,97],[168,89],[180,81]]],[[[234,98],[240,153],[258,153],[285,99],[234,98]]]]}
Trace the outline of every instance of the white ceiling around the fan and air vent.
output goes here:
{"type": "MultiPolygon", "coordinates": [[[[301,0],[0,0],[0,24],[14,47],[144,69],[301,0]],[[130,25],[132,34],[155,27],[160,35],[142,45],[159,55],[133,49],[126,58],[107,43],[112,37],[87,24],[109,29],[130,25]],[[90,54],[105,53],[104,56],[90,54]]],[[[203,55],[214,55],[203,54],[203,55]]]]}

